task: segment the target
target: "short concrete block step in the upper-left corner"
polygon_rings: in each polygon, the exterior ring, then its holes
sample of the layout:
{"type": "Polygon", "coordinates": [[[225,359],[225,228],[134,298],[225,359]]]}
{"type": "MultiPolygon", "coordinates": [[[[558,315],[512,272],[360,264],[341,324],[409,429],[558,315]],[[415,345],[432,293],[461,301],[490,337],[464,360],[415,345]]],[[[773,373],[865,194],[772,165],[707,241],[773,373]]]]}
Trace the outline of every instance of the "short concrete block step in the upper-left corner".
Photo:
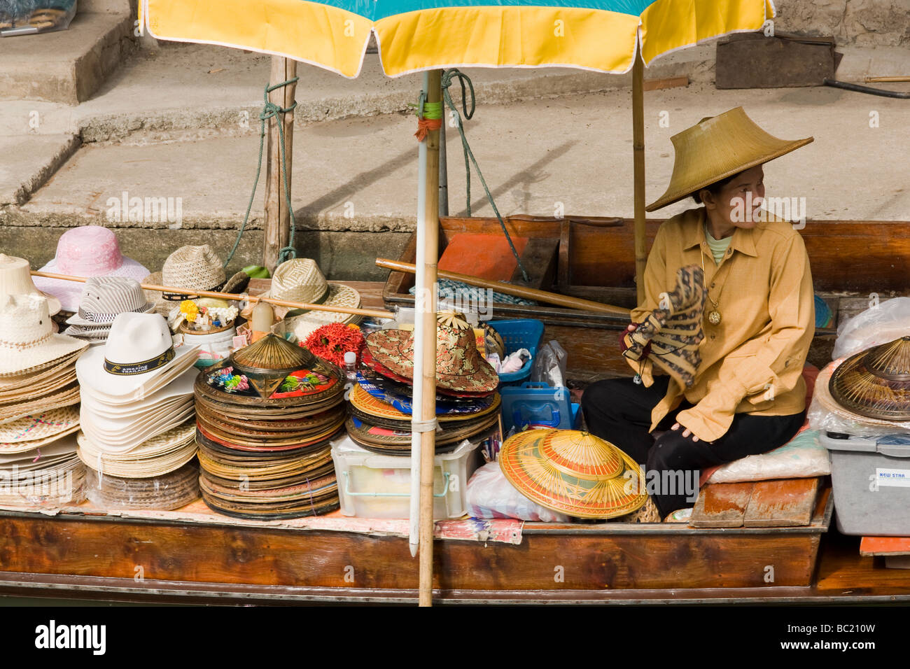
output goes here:
{"type": "Polygon", "coordinates": [[[67,30],[0,39],[0,100],[77,105],[131,51],[129,14],[78,12],[67,30]]]}

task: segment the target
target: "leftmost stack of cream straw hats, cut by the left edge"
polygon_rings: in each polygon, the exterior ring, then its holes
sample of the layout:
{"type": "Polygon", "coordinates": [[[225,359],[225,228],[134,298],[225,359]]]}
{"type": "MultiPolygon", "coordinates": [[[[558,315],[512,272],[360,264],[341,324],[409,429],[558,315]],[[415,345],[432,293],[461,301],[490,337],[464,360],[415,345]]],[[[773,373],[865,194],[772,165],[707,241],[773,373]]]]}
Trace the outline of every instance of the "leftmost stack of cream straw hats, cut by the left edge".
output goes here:
{"type": "Polygon", "coordinates": [[[36,293],[0,293],[0,505],[59,508],[84,499],[73,433],[76,359],[88,344],[55,334],[36,293]]]}

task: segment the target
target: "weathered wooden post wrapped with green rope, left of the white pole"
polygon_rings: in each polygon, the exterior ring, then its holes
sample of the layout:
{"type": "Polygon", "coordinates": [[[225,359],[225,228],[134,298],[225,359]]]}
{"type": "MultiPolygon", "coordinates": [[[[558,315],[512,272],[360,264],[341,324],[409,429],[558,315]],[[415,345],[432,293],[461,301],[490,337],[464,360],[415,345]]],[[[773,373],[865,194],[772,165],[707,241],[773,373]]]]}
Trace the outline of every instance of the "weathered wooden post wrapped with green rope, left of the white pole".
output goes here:
{"type": "MultiPolygon", "coordinates": [[[[272,73],[269,86],[288,81],[297,76],[297,61],[281,56],[272,56],[272,73]]],[[[282,109],[294,104],[294,92],[297,84],[288,84],[276,88],[268,94],[268,99],[282,109]]],[[[278,265],[278,250],[288,246],[290,239],[290,210],[288,199],[291,190],[291,166],[294,147],[294,112],[289,111],[278,118],[268,119],[268,157],[266,160],[266,226],[265,241],[262,250],[262,264],[269,272],[274,273],[278,265]],[[285,165],[288,169],[288,198],[285,198],[284,178],[281,175],[281,151],[278,147],[278,123],[284,124],[285,165]]]]}

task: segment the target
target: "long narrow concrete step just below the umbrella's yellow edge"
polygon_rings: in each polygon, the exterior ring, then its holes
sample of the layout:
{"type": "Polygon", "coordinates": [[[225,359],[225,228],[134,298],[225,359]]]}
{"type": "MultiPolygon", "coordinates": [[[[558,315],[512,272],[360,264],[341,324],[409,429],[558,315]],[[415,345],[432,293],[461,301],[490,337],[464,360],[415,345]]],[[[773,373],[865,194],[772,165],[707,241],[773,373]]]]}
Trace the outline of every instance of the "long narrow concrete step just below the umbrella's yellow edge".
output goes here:
{"type": "MultiPolygon", "coordinates": [[[[86,142],[156,142],[258,133],[269,56],[219,46],[159,42],[137,52],[98,94],[78,109],[77,131],[86,142]]],[[[630,75],[603,75],[571,68],[464,68],[480,105],[590,93],[630,86],[630,75]]],[[[649,78],[688,75],[713,80],[713,46],[666,56],[647,69],[649,78]]],[[[299,126],[408,110],[421,76],[389,78],[379,56],[367,54],[360,76],[346,79],[299,65],[299,126]]],[[[455,96],[454,99],[458,99],[455,96]]]]}

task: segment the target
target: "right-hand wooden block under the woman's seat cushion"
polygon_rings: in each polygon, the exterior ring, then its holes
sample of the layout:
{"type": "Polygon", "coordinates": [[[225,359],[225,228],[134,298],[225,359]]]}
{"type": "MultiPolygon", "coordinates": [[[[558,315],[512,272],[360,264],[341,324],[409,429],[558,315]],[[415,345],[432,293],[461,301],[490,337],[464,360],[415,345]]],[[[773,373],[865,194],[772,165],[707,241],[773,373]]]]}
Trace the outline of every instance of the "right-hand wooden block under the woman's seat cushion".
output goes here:
{"type": "Polygon", "coordinates": [[[756,481],[745,527],[795,527],[812,521],[818,478],[756,481]]]}

